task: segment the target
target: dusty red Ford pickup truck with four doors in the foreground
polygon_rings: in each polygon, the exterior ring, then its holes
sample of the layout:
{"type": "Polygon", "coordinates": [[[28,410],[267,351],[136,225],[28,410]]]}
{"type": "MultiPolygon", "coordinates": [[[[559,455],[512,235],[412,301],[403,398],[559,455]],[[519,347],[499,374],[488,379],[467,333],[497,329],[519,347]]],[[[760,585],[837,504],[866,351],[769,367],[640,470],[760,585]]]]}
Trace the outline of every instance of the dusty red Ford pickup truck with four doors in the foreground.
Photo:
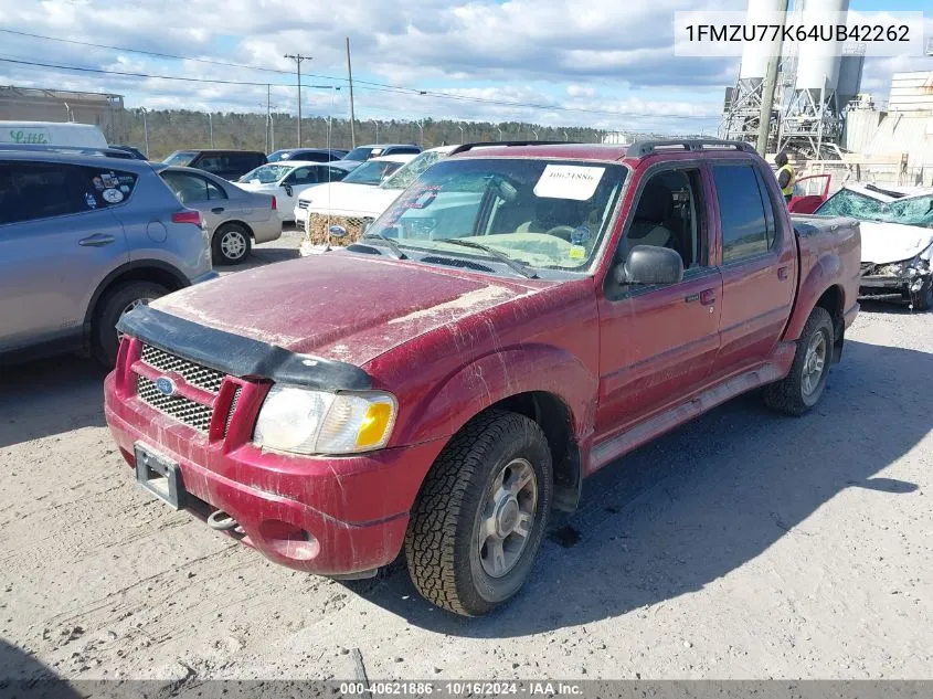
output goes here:
{"type": "Polygon", "coordinates": [[[467,145],[343,248],[127,314],[106,419],[141,486],[273,561],[404,551],[479,615],[593,472],[759,386],[810,409],[859,260],[744,144],[467,145]]]}

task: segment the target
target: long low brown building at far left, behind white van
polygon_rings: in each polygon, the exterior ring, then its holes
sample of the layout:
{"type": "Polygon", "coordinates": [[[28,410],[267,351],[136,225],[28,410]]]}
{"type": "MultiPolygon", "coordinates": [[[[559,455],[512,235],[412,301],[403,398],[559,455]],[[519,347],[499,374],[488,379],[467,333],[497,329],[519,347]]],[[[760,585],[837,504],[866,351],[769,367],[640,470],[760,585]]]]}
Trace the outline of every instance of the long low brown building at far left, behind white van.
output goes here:
{"type": "Polygon", "coordinates": [[[0,86],[0,120],[94,124],[108,142],[121,142],[124,114],[121,95],[0,86]]]}

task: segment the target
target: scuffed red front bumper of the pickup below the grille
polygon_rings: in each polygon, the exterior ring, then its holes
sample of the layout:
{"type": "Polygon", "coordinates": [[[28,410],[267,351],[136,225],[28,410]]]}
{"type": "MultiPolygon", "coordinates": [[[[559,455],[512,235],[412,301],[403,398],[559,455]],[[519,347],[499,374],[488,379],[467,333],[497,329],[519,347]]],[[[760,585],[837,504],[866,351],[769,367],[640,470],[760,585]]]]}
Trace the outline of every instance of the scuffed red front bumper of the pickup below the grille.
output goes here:
{"type": "Polygon", "coordinates": [[[178,465],[185,509],[201,517],[223,510],[240,523],[234,536],[243,543],[322,575],[372,571],[401,551],[409,510],[442,444],[330,458],[263,452],[250,439],[267,385],[238,384],[226,433],[212,424],[205,434],[141,401],[119,372],[104,384],[110,432],[130,465],[137,443],[178,465]]]}

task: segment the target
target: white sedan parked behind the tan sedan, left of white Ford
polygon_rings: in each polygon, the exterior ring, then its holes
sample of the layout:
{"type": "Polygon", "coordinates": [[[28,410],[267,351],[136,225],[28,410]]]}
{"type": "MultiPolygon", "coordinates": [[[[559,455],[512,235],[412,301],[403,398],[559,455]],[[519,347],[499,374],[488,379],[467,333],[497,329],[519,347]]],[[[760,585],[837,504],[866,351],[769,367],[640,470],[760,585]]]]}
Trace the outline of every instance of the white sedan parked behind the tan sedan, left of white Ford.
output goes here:
{"type": "Polygon", "coordinates": [[[333,162],[271,162],[251,170],[235,184],[247,192],[261,192],[276,198],[278,215],[294,221],[293,211],[298,195],[311,187],[339,182],[356,169],[356,163],[333,162]]]}

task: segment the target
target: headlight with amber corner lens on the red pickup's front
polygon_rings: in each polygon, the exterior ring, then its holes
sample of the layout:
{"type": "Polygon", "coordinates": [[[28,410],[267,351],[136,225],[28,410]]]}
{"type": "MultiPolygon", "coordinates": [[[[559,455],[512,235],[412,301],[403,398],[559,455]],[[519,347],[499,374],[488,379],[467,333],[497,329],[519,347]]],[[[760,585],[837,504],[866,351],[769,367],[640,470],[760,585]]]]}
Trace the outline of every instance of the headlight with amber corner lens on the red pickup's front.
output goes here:
{"type": "Polygon", "coordinates": [[[399,404],[391,393],[329,393],[276,385],[266,396],[253,442],[296,454],[354,454],[385,446],[399,404]]]}

